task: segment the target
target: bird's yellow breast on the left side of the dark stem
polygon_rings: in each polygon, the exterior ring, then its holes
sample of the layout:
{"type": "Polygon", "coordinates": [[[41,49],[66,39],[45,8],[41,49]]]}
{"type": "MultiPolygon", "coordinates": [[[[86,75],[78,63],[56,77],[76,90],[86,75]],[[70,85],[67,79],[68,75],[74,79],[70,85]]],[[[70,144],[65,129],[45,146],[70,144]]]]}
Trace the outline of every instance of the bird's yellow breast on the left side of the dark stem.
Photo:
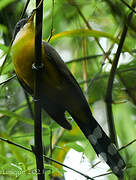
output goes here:
{"type": "Polygon", "coordinates": [[[17,76],[33,88],[34,37],[33,34],[17,39],[11,49],[11,56],[17,76]]]}

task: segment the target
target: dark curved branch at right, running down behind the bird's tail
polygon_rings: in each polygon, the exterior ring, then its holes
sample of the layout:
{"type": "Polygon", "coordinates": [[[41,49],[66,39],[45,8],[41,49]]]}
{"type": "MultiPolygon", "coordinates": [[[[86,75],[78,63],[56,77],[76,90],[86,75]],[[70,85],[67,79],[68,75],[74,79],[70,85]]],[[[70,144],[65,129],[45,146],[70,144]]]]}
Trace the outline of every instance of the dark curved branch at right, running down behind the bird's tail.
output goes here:
{"type": "Polygon", "coordinates": [[[116,132],[115,132],[113,112],[112,112],[112,88],[113,88],[113,81],[115,78],[117,65],[119,62],[119,57],[120,57],[122,47],[123,47],[123,44],[124,44],[124,41],[126,38],[126,34],[128,31],[128,25],[130,24],[131,19],[132,19],[132,14],[133,13],[129,14],[128,19],[127,19],[127,23],[125,23],[124,28],[123,28],[123,32],[121,34],[119,46],[118,46],[115,58],[114,58],[113,63],[112,63],[112,68],[110,71],[110,76],[109,76],[108,86],[107,86],[107,92],[106,92],[106,97],[105,97],[105,102],[106,102],[106,106],[107,106],[107,117],[108,117],[108,126],[109,126],[110,137],[111,137],[112,142],[114,142],[116,145],[117,145],[117,137],[116,137],[116,132]]]}

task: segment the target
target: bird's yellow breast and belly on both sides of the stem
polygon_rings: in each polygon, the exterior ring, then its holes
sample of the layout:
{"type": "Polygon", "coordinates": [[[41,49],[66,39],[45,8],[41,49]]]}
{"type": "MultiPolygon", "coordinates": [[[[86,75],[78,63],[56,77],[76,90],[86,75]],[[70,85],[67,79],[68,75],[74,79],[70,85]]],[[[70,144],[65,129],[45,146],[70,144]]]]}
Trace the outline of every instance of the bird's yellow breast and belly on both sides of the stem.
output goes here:
{"type": "MultiPolygon", "coordinates": [[[[11,49],[11,55],[18,78],[33,89],[34,72],[32,70],[32,64],[35,62],[35,35],[32,28],[29,28],[29,26],[26,27],[16,37],[11,49]]],[[[43,88],[52,95],[55,95],[55,91],[60,90],[62,87],[61,75],[46,56],[44,46],[42,46],[42,63],[45,66],[41,74],[43,88]]]]}

